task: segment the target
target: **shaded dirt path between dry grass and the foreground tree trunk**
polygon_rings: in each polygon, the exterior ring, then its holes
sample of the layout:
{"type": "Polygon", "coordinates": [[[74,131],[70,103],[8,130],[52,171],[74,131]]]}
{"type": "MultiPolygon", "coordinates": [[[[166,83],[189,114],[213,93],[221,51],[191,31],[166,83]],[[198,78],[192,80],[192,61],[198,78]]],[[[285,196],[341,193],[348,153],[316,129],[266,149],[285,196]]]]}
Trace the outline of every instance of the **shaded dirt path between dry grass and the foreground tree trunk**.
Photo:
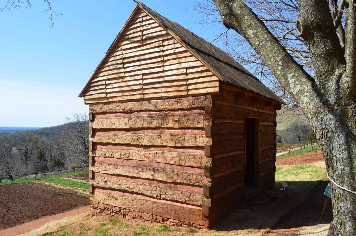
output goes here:
{"type": "Polygon", "coordinates": [[[333,208],[330,201],[324,214],[321,214],[325,202],[324,191],[327,185],[328,181],[321,181],[307,201],[284,215],[267,235],[299,235],[298,231],[304,229],[304,226],[329,224],[333,220],[333,208]]]}

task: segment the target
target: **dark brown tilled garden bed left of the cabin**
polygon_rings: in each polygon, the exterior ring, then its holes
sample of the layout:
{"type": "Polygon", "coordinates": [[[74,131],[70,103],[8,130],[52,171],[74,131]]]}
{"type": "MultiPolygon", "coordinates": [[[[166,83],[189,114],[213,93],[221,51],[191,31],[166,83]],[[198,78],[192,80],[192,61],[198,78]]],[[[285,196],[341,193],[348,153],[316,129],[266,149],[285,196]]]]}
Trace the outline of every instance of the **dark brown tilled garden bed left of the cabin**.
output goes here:
{"type": "Polygon", "coordinates": [[[0,186],[0,229],[89,205],[89,198],[30,183],[0,186]]]}

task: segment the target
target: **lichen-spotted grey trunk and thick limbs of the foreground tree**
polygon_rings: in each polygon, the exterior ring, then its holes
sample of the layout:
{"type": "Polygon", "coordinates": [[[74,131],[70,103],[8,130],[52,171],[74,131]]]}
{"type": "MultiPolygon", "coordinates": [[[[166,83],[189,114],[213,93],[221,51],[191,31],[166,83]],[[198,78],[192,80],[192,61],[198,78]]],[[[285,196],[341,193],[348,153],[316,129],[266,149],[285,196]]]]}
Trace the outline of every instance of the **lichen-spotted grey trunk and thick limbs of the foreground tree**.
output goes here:
{"type": "MultiPolygon", "coordinates": [[[[349,1],[345,56],[327,1],[300,0],[296,28],[312,57],[314,78],[241,0],[213,0],[227,28],[256,50],[302,108],[324,155],[330,179],[356,192],[356,10],[349,1]]],[[[356,194],[330,183],[334,235],[356,235],[356,194]]]]}

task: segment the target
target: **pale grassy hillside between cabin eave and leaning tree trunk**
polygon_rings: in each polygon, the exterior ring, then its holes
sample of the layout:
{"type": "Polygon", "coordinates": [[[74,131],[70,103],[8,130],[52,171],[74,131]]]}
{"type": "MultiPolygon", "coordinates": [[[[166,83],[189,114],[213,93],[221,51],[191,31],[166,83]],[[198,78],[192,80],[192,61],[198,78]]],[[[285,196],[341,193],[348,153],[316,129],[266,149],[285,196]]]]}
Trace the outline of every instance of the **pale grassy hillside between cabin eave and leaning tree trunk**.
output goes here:
{"type": "Polygon", "coordinates": [[[304,115],[301,109],[294,110],[278,110],[277,111],[277,128],[276,130],[285,130],[294,121],[309,125],[308,118],[304,115]]]}

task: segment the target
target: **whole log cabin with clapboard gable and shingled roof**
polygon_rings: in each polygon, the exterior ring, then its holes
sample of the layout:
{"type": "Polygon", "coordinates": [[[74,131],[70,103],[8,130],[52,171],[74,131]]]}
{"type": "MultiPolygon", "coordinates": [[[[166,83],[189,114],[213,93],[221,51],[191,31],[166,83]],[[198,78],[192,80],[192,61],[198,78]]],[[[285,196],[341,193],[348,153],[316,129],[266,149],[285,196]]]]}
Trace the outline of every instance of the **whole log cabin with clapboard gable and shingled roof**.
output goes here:
{"type": "Polygon", "coordinates": [[[141,2],[79,97],[93,215],[208,228],[274,187],[283,101],[141,2]]]}

